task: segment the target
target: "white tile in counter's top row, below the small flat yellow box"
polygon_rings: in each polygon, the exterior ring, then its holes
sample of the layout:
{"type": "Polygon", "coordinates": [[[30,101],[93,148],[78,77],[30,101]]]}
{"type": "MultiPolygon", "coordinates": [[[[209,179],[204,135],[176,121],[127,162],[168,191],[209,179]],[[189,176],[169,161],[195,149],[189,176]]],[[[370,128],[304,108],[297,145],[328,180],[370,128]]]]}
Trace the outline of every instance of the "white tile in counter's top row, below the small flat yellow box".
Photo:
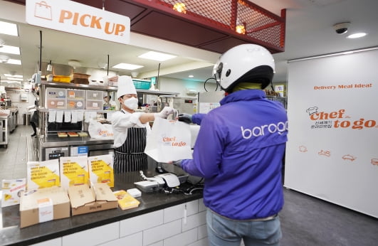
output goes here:
{"type": "Polygon", "coordinates": [[[163,223],[163,210],[146,213],[137,217],[128,218],[120,221],[120,237],[141,232],[153,228],[163,223]]]}

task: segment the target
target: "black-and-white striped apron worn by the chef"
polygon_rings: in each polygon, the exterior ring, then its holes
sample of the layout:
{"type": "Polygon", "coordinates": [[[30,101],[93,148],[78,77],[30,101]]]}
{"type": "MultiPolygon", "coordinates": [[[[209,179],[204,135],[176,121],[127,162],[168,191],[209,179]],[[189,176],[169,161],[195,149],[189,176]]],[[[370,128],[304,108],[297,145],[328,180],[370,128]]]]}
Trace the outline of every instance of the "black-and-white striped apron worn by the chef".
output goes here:
{"type": "Polygon", "coordinates": [[[147,129],[131,127],[122,146],[115,148],[114,173],[140,171],[148,168],[145,154],[147,129]]]}

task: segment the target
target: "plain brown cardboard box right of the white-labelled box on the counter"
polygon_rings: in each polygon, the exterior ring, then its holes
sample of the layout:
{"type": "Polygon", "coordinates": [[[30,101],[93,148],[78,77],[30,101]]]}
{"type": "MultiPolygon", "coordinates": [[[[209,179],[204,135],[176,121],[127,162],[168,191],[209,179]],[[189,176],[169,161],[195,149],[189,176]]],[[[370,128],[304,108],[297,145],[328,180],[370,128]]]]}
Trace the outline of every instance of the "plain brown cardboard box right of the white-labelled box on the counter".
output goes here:
{"type": "Polygon", "coordinates": [[[68,188],[72,215],[117,208],[117,198],[106,183],[92,183],[68,188]]]}

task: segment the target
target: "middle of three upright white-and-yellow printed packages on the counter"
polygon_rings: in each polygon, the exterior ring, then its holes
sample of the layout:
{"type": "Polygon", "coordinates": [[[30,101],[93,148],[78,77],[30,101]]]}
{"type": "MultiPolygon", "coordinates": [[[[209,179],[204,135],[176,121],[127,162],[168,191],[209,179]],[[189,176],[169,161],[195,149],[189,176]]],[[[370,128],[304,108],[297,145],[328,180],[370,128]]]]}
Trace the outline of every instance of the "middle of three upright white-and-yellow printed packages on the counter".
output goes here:
{"type": "Polygon", "coordinates": [[[70,186],[78,186],[88,183],[88,157],[87,156],[63,156],[61,162],[61,186],[68,189],[70,186]]]}

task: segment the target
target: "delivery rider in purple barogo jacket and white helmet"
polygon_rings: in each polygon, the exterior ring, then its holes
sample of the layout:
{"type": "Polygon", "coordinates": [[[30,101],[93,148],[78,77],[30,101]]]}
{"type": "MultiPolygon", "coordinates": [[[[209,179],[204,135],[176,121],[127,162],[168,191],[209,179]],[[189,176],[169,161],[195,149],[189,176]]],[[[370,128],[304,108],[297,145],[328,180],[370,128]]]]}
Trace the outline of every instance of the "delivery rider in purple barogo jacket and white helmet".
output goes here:
{"type": "MultiPolygon", "coordinates": [[[[201,124],[193,159],[173,161],[205,179],[209,244],[279,245],[283,208],[281,165],[288,117],[262,90],[275,69],[266,48],[243,44],[226,51],[213,73],[225,97],[206,115],[179,115],[201,124]]],[[[180,119],[180,117],[182,119],[180,119]]]]}

